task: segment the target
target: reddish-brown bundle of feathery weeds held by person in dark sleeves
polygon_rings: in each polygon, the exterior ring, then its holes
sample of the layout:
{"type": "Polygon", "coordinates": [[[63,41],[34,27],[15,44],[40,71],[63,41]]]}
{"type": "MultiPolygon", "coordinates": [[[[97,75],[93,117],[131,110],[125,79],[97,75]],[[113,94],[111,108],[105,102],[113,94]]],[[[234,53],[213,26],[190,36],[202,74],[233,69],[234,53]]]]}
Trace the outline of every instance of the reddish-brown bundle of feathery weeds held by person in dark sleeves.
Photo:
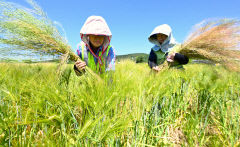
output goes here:
{"type": "Polygon", "coordinates": [[[179,52],[195,59],[206,59],[239,70],[240,21],[208,20],[197,24],[181,45],[179,52]]]}

